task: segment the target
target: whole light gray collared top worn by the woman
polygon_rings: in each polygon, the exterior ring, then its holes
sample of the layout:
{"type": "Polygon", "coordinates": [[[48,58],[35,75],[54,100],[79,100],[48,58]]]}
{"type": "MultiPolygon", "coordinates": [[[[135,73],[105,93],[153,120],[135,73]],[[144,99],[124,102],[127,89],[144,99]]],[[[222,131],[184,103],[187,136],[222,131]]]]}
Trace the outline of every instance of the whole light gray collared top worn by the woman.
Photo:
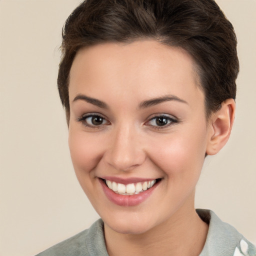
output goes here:
{"type": "MultiPolygon", "coordinates": [[[[209,224],[206,242],[199,256],[256,256],[256,247],[234,227],[222,222],[213,211],[196,209],[196,212],[209,224]]],[[[36,256],[108,256],[102,219],[36,256]]]]}

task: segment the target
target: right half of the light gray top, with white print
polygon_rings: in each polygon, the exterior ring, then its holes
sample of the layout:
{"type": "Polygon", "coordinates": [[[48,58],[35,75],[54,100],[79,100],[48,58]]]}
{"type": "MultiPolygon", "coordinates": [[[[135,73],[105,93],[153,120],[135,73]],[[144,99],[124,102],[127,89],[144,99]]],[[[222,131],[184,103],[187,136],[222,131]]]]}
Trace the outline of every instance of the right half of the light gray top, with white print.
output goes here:
{"type": "Polygon", "coordinates": [[[233,226],[221,221],[213,211],[196,209],[196,212],[209,224],[200,256],[256,256],[256,247],[233,226]]]}

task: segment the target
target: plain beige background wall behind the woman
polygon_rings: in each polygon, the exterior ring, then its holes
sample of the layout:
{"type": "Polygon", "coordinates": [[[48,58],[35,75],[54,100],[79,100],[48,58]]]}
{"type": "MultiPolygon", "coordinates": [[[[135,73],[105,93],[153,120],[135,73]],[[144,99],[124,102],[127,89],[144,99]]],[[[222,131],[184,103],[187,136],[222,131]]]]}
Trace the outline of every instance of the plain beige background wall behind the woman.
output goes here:
{"type": "MultiPolygon", "coordinates": [[[[98,218],[76,180],[56,89],[61,27],[79,0],[0,0],[0,255],[33,255],[98,218]]],[[[237,113],[196,207],[256,243],[256,1],[217,0],[239,45],[237,113]]]]}

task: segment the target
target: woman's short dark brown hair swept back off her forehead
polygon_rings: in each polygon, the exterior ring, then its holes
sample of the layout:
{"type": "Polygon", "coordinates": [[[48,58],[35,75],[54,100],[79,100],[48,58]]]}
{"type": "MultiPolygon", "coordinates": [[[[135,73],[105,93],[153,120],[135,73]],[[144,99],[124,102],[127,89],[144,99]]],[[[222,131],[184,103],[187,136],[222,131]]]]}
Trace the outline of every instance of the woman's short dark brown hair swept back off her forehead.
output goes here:
{"type": "Polygon", "coordinates": [[[239,71],[232,24],[214,0],[85,0],[62,30],[57,85],[69,122],[69,72],[77,51],[105,42],[154,39],[180,47],[194,59],[206,117],[235,98],[239,71]]]}

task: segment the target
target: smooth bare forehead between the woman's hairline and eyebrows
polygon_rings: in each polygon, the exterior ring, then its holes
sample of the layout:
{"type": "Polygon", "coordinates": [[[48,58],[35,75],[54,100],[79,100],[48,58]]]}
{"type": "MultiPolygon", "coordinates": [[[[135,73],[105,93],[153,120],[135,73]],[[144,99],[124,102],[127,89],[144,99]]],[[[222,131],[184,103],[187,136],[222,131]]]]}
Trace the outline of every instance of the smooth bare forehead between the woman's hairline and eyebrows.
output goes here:
{"type": "Polygon", "coordinates": [[[98,44],[78,51],[70,70],[69,97],[84,93],[141,101],[173,94],[193,99],[202,94],[194,66],[185,50],[155,40],[98,44]]]}

